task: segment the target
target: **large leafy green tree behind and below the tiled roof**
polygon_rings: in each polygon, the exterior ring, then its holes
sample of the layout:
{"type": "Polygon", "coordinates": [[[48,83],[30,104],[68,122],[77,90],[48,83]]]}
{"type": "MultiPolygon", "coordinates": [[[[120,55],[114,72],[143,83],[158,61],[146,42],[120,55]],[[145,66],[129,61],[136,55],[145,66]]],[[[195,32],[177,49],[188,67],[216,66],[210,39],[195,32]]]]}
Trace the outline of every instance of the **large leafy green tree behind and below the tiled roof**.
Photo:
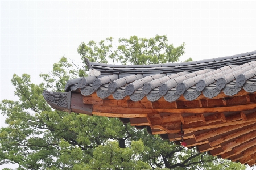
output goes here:
{"type": "MultiPolygon", "coordinates": [[[[166,52],[163,56],[156,53],[163,51],[163,45],[159,44],[166,42],[165,36],[156,37],[144,40],[158,40],[154,42],[154,53],[130,49],[133,55],[140,51],[144,53],[141,56],[154,54],[161,58],[159,62],[169,62],[166,52]]],[[[110,40],[113,39],[107,39],[110,40]]],[[[138,43],[142,40],[138,39],[138,43]]],[[[126,43],[127,39],[119,41],[126,43]]],[[[114,61],[133,63],[121,52],[126,49],[119,46],[112,52],[112,46],[105,45],[105,41],[100,42],[100,49],[93,41],[88,44],[79,46],[82,59],[89,57],[92,61],[107,62],[113,57],[114,61]]],[[[148,58],[143,60],[137,56],[134,62],[157,63],[154,57],[148,58]]],[[[245,169],[241,164],[200,154],[158,135],[149,135],[145,128],[138,130],[117,118],[69,114],[49,107],[43,99],[43,89],[64,91],[67,80],[77,76],[86,76],[86,68],[69,63],[65,57],[53,65],[51,73],[40,74],[43,83],[31,83],[28,74],[14,74],[11,82],[19,101],[3,100],[0,104],[8,125],[0,129],[0,164],[16,163],[18,169],[245,169]]]]}

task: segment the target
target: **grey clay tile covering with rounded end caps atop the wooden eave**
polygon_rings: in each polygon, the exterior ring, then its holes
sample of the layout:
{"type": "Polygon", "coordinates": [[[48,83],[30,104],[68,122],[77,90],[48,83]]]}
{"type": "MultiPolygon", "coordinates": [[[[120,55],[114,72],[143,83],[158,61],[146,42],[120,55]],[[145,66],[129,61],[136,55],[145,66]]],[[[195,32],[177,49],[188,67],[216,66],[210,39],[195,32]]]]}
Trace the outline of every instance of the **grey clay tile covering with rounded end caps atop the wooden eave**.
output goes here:
{"type": "Polygon", "coordinates": [[[164,100],[172,102],[181,95],[191,101],[201,94],[211,99],[221,91],[233,96],[241,88],[254,92],[255,54],[256,51],[154,65],[110,65],[87,60],[88,67],[100,71],[100,76],[69,80],[65,90],[80,89],[84,96],[96,91],[101,99],[113,95],[114,99],[121,100],[129,96],[132,101],[142,100],[145,96],[149,101],[157,101],[163,96],[164,100]]]}

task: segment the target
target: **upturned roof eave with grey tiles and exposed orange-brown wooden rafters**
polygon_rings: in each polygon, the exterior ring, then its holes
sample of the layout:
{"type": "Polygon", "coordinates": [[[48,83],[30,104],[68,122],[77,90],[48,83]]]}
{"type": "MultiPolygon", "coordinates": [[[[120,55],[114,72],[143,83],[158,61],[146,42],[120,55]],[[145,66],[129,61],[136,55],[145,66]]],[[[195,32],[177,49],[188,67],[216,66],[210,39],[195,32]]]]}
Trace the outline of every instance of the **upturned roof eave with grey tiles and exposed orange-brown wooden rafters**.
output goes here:
{"type": "Polygon", "coordinates": [[[44,91],[52,108],[118,117],[199,152],[256,164],[256,51],[186,63],[107,65],[66,92],[44,91]]]}

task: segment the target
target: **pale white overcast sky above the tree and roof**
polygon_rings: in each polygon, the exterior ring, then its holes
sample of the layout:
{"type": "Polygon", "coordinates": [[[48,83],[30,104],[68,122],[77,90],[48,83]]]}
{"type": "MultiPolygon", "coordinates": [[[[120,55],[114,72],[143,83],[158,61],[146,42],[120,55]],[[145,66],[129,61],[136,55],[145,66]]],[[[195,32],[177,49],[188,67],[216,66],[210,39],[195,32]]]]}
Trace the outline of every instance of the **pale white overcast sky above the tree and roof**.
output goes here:
{"type": "Polygon", "coordinates": [[[0,1],[0,101],[17,100],[14,73],[40,83],[61,56],[80,61],[77,46],[89,40],[167,35],[187,44],[181,61],[256,50],[255,9],[256,1],[0,1]]]}

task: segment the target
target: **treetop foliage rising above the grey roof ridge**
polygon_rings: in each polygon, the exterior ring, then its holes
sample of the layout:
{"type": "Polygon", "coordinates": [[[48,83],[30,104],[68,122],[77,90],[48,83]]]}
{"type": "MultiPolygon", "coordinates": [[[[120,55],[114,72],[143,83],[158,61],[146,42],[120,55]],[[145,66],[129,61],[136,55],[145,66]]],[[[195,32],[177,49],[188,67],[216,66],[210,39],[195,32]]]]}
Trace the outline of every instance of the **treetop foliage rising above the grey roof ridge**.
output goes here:
{"type": "MultiPolygon", "coordinates": [[[[185,43],[175,47],[168,44],[166,35],[156,35],[150,39],[131,36],[129,39],[118,40],[118,45],[113,44],[113,38],[107,38],[96,44],[94,41],[82,42],[77,49],[82,57],[93,62],[114,64],[147,65],[152,63],[170,63],[179,61],[185,51],[185,43]]],[[[84,58],[82,58],[84,59],[84,58]]]]}

